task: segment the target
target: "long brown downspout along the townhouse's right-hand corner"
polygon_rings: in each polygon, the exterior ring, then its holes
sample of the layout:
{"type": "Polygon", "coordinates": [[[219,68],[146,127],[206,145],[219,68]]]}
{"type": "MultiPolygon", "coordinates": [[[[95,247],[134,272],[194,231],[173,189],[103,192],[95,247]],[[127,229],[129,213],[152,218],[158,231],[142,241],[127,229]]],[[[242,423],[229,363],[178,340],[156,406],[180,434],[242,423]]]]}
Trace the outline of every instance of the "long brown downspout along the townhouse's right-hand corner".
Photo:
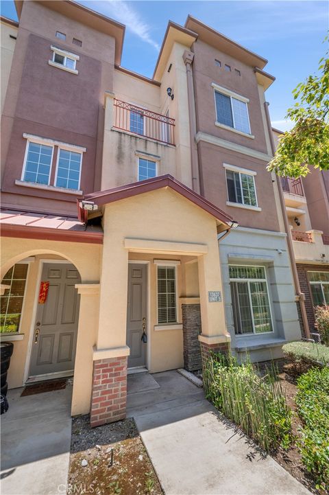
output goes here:
{"type": "MultiPolygon", "coordinates": [[[[276,152],[276,148],[274,146],[271,122],[269,119],[269,103],[265,102],[264,107],[265,107],[267,129],[269,131],[269,141],[271,142],[271,150],[272,150],[272,154],[274,156],[274,154],[276,152]]],[[[300,279],[298,278],[298,273],[297,273],[295,253],[293,252],[293,240],[291,238],[291,231],[290,231],[289,222],[288,222],[287,209],[286,209],[286,205],[284,203],[282,185],[281,185],[280,178],[278,176],[276,176],[276,178],[277,178],[277,184],[278,184],[280,205],[281,205],[281,209],[282,209],[284,229],[287,233],[287,244],[288,244],[288,251],[289,251],[289,256],[290,256],[290,260],[291,260],[291,270],[293,272],[293,282],[295,285],[295,294],[297,295],[298,301],[300,303],[300,312],[302,313],[302,321],[303,321],[305,336],[306,336],[306,338],[310,338],[310,328],[308,327],[308,320],[307,320],[307,314],[306,314],[306,308],[305,308],[305,294],[300,289],[300,279]]]]}

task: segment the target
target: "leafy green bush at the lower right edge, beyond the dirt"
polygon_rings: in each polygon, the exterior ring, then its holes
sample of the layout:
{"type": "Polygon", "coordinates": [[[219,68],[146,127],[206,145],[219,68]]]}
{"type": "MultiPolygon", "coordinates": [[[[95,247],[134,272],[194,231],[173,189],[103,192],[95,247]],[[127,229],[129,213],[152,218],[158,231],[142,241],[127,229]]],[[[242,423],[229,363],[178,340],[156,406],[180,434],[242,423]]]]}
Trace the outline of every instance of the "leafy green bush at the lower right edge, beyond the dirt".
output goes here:
{"type": "Polygon", "coordinates": [[[297,442],[317,487],[329,490],[329,368],[313,368],[297,380],[296,405],[304,427],[297,442]]]}

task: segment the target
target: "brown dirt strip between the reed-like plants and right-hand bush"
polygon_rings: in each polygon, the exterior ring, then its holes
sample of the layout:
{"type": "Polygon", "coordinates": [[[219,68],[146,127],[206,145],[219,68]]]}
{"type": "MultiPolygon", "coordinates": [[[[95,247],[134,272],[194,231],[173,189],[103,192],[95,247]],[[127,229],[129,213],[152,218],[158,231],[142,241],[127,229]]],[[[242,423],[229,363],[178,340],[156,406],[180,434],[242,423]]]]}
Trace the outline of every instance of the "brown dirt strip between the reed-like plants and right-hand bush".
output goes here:
{"type": "MultiPolygon", "coordinates": [[[[278,380],[280,380],[280,385],[282,387],[282,391],[286,395],[286,401],[289,407],[293,410],[293,422],[292,422],[292,430],[293,436],[295,439],[298,435],[298,428],[302,426],[302,422],[300,421],[300,417],[298,417],[296,413],[296,404],[295,404],[295,395],[297,393],[296,387],[296,374],[293,365],[287,363],[284,359],[278,359],[274,362],[274,365],[278,371],[278,380]]],[[[273,363],[270,361],[260,362],[256,366],[256,369],[259,371],[260,376],[265,376],[267,373],[271,373],[271,368],[273,363]]],[[[315,488],[315,483],[313,479],[310,477],[308,472],[304,469],[302,464],[302,457],[300,456],[300,452],[293,442],[293,445],[289,450],[279,449],[276,452],[270,452],[271,457],[275,459],[282,468],[287,470],[295,479],[300,481],[310,492],[314,494],[324,494],[315,488]]]]}

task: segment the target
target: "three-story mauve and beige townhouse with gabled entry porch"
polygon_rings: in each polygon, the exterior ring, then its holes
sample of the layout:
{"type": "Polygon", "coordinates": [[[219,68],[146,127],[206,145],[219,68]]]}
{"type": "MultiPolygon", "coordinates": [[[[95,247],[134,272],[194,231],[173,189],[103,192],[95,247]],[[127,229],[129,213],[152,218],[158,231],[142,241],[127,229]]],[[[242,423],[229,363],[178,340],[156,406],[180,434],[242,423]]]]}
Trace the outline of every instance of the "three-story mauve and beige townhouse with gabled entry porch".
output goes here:
{"type": "Polygon", "coordinates": [[[266,60],[189,16],[169,21],[146,78],[121,67],[120,23],[15,3],[1,42],[9,387],[74,372],[72,414],[97,426],[125,416],[127,368],[280,356],[301,334],[266,170],[266,60]]]}

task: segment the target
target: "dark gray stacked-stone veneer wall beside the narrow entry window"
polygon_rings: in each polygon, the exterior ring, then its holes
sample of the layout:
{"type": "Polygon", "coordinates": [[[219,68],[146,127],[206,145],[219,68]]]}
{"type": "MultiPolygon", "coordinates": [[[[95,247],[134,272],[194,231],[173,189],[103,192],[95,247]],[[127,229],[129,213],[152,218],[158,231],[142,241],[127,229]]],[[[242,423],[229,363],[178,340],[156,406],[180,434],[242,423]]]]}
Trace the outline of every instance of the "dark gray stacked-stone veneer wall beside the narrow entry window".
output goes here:
{"type": "Polygon", "coordinates": [[[184,368],[195,371],[202,368],[201,347],[198,336],[201,333],[201,310],[199,304],[182,304],[184,368]]]}

